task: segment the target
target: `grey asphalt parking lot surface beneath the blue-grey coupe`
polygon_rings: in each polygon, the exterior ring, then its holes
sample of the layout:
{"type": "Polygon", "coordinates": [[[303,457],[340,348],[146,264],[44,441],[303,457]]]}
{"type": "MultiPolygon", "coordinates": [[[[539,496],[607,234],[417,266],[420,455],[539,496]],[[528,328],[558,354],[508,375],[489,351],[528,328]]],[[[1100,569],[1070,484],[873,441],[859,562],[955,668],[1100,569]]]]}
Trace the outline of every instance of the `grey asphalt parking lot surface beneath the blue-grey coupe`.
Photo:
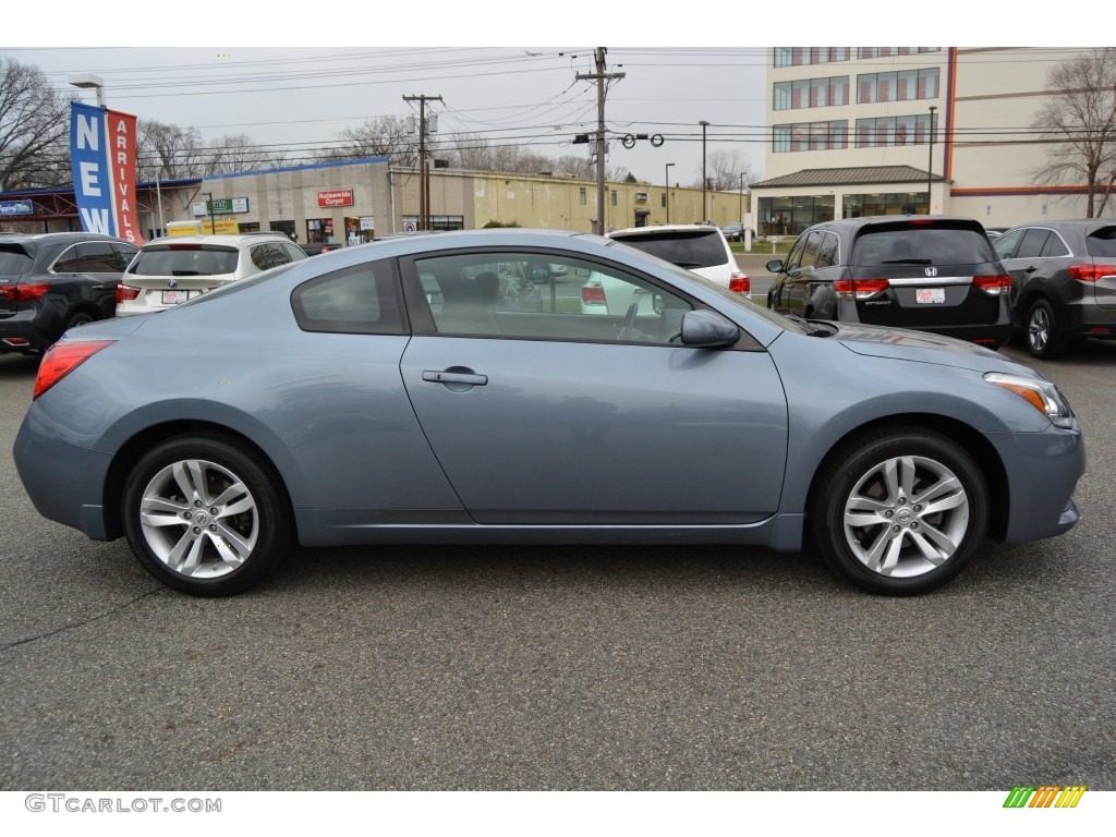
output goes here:
{"type": "Polygon", "coordinates": [[[37,360],[0,357],[0,789],[1116,790],[1116,344],[1032,365],[1084,426],[1083,520],[925,597],[555,546],[302,550],[198,599],[35,512],[37,360]]]}

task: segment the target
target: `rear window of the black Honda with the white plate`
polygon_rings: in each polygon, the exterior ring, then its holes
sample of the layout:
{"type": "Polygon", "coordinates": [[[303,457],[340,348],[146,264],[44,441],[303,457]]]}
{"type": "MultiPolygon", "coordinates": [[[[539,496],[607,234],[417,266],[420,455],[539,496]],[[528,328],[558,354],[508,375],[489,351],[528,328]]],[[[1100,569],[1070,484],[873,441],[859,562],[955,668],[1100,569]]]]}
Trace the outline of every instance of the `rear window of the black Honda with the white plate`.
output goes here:
{"type": "Polygon", "coordinates": [[[983,232],[955,227],[905,227],[867,230],[853,246],[852,263],[980,264],[995,261],[983,232]]]}

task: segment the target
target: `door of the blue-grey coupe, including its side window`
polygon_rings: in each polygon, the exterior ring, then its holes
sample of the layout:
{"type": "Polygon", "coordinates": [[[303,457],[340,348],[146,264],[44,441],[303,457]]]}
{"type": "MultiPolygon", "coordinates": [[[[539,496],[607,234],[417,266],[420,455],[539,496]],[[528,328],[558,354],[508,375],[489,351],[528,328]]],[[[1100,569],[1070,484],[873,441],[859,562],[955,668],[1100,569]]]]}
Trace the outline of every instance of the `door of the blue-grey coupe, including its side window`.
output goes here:
{"type": "Polygon", "coordinates": [[[762,350],[677,343],[692,302],[616,266],[559,253],[567,276],[607,272],[651,295],[632,317],[583,314],[580,282],[517,309],[463,292],[470,259],[401,264],[414,337],[402,359],[431,446],[473,519],[491,525],[748,523],[779,502],[787,406],[762,350]],[[448,282],[432,312],[432,282],[448,282]],[[460,310],[458,310],[460,309],[460,310]]]}

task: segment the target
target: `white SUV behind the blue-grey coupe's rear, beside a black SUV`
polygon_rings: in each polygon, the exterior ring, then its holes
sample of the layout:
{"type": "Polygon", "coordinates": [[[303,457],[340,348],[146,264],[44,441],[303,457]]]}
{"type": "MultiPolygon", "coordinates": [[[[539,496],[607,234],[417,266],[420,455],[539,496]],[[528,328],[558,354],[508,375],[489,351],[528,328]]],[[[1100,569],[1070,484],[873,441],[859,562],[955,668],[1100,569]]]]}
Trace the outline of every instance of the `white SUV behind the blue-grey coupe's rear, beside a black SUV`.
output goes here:
{"type": "Polygon", "coordinates": [[[144,244],[116,289],[116,315],[163,311],[306,251],[281,232],[172,235],[144,244]]]}

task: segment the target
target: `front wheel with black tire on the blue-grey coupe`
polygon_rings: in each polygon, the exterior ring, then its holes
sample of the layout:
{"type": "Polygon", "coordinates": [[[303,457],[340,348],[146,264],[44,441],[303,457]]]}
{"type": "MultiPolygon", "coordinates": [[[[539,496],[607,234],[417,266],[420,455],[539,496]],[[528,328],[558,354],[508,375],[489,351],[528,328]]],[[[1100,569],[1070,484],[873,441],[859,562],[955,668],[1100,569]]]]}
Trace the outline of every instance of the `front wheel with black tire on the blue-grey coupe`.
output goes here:
{"type": "Polygon", "coordinates": [[[828,462],[808,527],[838,575],[870,593],[911,596],[961,571],[984,539],[988,509],[984,478],[964,449],[925,429],[895,427],[853,440],[828,462]],[[897,474],[891,487],[888,465],[897,474]]]}

